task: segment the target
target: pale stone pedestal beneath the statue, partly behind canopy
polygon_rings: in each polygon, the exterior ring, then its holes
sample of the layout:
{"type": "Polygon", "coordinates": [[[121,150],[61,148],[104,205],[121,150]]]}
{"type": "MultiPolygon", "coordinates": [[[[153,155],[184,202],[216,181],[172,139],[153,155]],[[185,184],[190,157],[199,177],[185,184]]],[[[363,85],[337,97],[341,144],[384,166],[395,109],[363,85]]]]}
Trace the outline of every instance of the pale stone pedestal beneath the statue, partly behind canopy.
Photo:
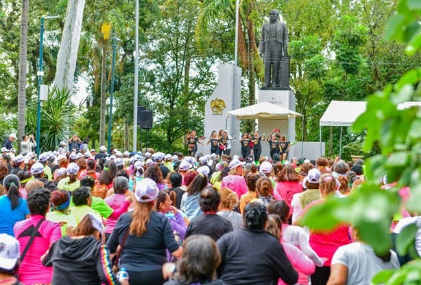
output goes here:
{"type": "MultiPolygon", "coordinates": [[[[296,97],[289,89],[260,89],[258,102],[269,102],[296,111],[296,97]]],[[[258,119],[258,133],[265,134],[265,139],[274,128],[279,128],[281,135],[293,143],[296,141],[296,119],[258,119]]],[[[270,157],[269,143],[262,142],[262,155],[270,157]]],[[[295,147],[289,149],[289,159],[295,156],[295,147]]]]}

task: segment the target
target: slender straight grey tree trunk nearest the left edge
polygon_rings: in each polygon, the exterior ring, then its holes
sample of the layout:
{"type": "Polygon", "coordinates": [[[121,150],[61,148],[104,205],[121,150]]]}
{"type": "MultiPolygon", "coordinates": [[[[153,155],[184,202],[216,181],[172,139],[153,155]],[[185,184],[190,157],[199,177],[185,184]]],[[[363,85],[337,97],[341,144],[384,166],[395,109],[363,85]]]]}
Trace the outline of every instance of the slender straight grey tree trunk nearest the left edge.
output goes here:
{"type": "Polygon", "coordinates": [[[19,93],[18,93],[18,148],[21,153],[21,139],[25,135],[26,69],[29,0],[22,0],[21,42],[19,50],[19,93]]]}

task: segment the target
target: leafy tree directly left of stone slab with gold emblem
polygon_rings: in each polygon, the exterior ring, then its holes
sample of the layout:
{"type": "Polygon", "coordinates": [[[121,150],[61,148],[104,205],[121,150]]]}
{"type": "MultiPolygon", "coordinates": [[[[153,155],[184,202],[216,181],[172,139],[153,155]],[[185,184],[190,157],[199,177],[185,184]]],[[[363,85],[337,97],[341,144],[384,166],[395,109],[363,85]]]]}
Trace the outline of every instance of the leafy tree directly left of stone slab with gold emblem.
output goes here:
{"type": "Polygon", "coordinates": [[[203,131],[204,103],[215,87],[210,68],[216,57],[202,56],[194,38],[195,1],[165,1],[162,19],[151,28],[147,54],[141,60],[145,84],[142,99],[154,111],[154,133],[160,149],[184,148],[184,135],[203,131]]]}

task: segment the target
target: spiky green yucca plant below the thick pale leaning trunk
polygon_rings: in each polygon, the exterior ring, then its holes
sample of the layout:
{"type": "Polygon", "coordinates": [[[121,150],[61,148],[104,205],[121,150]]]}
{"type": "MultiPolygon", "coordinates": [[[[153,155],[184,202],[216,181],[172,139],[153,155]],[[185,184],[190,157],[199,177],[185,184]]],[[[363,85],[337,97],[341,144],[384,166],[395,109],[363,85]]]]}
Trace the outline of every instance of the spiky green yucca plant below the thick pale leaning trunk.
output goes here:
{"type": "MultiPolygon", "coordinates": [[[[41,106],[40,152],[56,150],[61,140],[68,137],[75,122],[77,108],[71,102],[70,91],[56,87],[48,93],[47,101],[41,106]]],[[[36,133],[36,100],[29,102],[27,109],[27,133],[36,133]]]]}

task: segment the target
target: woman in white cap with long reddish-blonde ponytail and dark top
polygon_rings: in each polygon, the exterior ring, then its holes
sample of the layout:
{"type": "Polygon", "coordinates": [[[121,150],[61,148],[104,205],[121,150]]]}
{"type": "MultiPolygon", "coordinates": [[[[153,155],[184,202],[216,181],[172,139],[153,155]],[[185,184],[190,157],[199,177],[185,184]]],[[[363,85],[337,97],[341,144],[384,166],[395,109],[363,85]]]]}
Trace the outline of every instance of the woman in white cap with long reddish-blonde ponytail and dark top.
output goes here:
{"type": "Polygon", "coordinates": [[[168,218],[156,212],[158,192],[152,179],[136,183],[134,211],[121,215],[107,242],[111,253],[120,245],[119,262],[127,269],[131,285],[163,284],[165,249],[175,258],[180,258],[182,253],[168,218]]]}

